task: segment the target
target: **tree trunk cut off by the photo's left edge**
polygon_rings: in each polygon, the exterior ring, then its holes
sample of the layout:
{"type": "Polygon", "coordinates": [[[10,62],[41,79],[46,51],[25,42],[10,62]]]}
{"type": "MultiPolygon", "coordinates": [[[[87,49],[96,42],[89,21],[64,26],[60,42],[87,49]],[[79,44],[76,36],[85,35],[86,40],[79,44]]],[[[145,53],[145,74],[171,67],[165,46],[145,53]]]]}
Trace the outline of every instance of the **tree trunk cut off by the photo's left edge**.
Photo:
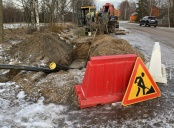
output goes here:
{"type": "Polygon", "coordinates": [[[2,0],[0,0],[0,44],[4,41],[4,33],[3,33],[3,6],[2,0]]]}

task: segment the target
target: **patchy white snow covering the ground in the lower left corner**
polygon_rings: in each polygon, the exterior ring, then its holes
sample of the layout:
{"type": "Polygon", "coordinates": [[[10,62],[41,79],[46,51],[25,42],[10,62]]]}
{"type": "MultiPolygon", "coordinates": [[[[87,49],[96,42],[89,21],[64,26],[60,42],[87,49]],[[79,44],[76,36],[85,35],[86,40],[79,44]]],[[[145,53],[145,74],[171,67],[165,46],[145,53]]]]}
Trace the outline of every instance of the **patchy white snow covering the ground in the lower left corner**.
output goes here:
{"type": "Polygon", "coordinates": [[[49,128],[57,126],[52,120],[60,118],[59,113],[66,110],[66,107],[62,105],[44,105],[43,97],[35,104],[25,102],[23,99],[25,94],[22,91],[17,96],[15,106],[11,106],[8,99],[0,99],[0,127],[49,128]]]}

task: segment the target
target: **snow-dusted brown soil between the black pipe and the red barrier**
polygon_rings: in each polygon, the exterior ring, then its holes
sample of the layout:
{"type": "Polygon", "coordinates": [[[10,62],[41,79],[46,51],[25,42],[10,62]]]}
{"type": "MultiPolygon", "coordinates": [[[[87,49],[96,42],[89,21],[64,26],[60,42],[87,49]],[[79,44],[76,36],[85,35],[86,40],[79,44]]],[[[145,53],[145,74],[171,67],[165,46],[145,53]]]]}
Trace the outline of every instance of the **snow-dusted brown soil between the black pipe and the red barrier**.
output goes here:
{"type": "Polygon", "coordinates": [[[77,105],[74,85],[80,84],[83,70],[60,71],[46,75],[42,72],[21,72],[13,79],[25,92],[27,101],[37,102],[44,97],[44,103],[77,105]]]}

